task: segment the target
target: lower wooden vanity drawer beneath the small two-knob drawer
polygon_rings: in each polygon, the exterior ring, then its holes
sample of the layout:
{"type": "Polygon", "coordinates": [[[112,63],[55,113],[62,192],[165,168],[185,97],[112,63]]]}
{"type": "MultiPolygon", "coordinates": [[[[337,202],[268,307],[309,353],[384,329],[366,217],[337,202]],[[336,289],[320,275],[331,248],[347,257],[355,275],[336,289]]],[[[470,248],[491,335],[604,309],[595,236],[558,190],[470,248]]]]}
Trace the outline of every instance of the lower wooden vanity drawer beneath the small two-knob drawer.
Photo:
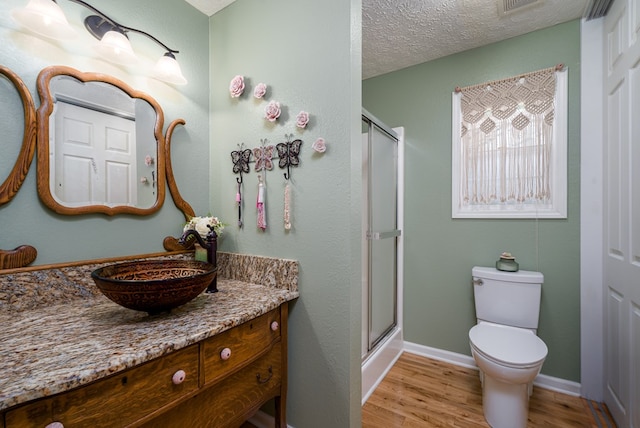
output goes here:
{"type": "Polygon", "coordinates": [[[140,428],[238,427],[261,405],[282,394],[282,347],[212,385],[140,428]]]}

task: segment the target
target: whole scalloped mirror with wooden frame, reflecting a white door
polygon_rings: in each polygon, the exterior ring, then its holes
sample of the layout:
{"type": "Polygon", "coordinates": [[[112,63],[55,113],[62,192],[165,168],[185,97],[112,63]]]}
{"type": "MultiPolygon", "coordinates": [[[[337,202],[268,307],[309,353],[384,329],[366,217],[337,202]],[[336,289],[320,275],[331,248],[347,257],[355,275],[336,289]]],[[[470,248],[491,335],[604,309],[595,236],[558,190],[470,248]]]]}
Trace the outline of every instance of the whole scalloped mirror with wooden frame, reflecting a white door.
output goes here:
{"type": "Polygon", "coordinates": [[[147,215],[165,197],[160,105],[112,76],[38,75],[38,195],[59,214],[147,215]]]}

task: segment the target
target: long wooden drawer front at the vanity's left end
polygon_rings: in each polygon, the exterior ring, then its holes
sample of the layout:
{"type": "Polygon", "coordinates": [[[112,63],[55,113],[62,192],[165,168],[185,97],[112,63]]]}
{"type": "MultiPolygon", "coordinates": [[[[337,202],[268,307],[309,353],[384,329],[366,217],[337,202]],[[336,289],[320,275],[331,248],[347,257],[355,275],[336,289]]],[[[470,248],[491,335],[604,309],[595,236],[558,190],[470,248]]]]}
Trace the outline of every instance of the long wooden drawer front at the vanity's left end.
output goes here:
{"type": "Polygon", "coordinates": [[[6,414],[6,428],[110,427],[132,423],[198,389],[198,345],[6,414]],[[184,380],[180,382],[180,370],[184,380]],[[174,383],[175,375],[175,383],[174,383]]]}

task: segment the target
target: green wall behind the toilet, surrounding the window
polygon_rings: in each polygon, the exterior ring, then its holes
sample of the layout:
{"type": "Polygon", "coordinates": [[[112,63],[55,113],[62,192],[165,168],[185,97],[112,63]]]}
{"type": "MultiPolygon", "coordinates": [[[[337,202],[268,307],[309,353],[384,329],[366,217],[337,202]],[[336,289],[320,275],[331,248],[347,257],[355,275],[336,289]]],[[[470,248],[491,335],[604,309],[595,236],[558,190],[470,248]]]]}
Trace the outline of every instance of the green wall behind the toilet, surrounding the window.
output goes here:
{"type": "Polygon", "coordinates": [[[542,373],[580,381],[580,22],[540,30],[363,82],[363,107],[405,128],[404,337],[470,355],[471,268],[510,251],[545,276],[542,373]],[[451,92],[564,63],[569,70],[568,218],[451,218],[451,92]]]}

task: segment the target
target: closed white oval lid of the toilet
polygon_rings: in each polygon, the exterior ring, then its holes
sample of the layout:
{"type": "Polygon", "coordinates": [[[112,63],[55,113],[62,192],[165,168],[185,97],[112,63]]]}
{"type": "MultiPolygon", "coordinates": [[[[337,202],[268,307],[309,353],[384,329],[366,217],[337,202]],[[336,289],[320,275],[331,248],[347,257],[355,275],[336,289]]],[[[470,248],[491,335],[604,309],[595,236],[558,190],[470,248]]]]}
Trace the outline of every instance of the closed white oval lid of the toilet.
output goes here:
{"type": "Polygon", "coordinates": [[[529,366],[547,356],[542,339],[522,328],[480,323],[469,330],[469,340],[486,357],[512,366],[529,366]]]}

